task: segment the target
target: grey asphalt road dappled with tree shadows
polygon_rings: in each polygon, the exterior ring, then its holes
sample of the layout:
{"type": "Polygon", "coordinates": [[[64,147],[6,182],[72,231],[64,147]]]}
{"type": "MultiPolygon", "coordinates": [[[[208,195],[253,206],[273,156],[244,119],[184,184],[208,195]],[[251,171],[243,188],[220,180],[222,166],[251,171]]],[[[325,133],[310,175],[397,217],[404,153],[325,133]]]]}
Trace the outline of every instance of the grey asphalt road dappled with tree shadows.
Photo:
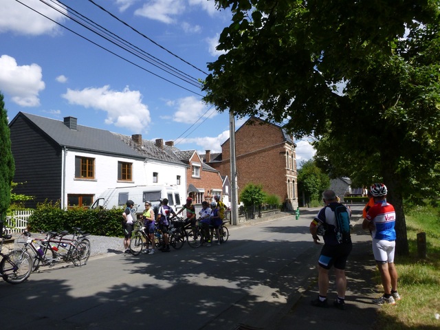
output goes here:
{"type": "Polygon", "coordinates": [[[110,254],[43,269],[20,285],[1,281],[0,327],[264,329],[316,275],[315,214],[230,226],[221,246],[110,254]]]}

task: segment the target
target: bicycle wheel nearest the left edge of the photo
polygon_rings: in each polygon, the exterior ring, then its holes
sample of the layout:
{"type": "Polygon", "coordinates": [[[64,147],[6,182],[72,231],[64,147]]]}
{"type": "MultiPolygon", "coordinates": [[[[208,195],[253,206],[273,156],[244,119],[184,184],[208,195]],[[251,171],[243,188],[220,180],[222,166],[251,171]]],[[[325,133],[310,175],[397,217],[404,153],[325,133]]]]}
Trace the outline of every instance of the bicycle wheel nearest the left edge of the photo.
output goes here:
{"type": "Polygon", "coordinates": [[[32,256],[23,250],[6,254],[0,263],[0,274],[10,284],[23,283],[32,272],[32,256]]]}

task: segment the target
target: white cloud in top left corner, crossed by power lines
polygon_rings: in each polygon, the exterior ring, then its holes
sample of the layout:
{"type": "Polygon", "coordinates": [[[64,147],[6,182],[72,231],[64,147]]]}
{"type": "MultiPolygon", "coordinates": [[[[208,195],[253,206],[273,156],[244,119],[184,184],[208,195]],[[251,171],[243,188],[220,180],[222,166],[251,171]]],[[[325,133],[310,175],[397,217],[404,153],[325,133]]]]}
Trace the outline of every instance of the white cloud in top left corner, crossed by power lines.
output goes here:
{"type": "MultiPolygon", "coordinates": [[[[67,19],[63,14],[39,0],[24,0],[22,2],[54,21],[61,23],[67,19]]],[[[54,2],[57,3],[57,1],[54,2]]],[[[17,1],[1,1],[0,33],[14,32],[38,36],[40,34],[55,34],[60,30],[56,23],[30,10],[30,8],[17,1]]],[[[67,13],[67,10],[58,5],[56,8],[63,13],[67,13]]]]}

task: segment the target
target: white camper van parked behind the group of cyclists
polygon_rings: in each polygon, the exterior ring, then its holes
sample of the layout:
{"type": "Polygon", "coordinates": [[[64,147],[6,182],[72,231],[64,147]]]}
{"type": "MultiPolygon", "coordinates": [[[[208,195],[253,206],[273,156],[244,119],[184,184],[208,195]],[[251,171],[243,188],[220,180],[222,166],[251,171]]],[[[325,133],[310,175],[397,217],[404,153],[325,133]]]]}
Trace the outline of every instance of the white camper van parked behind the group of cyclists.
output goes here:
{"type": "Polygon", "coordinates": [[[151,201],[151,207],[159,205],[161,199],[168,199],[168,206],[175,212],[180,210],[180,192],[177,186],[134,186],[109,188],[102,192],[91,208],[124,208],[126,201],[131,199],[135,202],[136,214],[142,214],[145,210],[145,201],[151,201]]]}

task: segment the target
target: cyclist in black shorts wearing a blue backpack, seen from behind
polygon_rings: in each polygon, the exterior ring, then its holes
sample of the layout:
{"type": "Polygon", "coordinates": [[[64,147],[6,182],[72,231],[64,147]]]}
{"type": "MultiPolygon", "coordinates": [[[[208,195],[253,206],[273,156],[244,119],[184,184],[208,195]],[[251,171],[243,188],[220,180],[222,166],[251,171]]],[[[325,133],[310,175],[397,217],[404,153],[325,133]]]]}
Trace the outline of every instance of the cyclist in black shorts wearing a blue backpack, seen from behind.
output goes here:
{"type": "Polygon", "coordinates": [[[318,288],[319,296],[311,301],[315,307],[327,307],[327,290],[329,289],[329,270],[335,267],[336,290],[338,298],[333,305],[338,309],[345,308],[345,290],[347,278],[345,277],[345,265],[353,248],[350,237],[351,210],[338,203],[333,190],[322,192],[325,207],[322,208],[314,221],[310,223],[310,233],[316,244],[320,241],[318,228],[325,228],[324,246],[318,260],[318,288]]]}

